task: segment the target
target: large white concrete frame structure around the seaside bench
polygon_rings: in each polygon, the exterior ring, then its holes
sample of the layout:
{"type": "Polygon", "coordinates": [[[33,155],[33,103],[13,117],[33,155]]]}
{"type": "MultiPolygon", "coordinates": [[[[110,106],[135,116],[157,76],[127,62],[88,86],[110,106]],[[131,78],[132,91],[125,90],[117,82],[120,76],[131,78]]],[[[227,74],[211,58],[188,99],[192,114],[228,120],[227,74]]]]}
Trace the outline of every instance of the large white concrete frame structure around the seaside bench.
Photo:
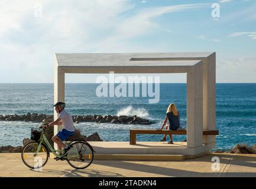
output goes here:
{"type": "Polygon", "coordinates": [[[215,129],[215,70],[215,53],[55,54],[54,103],[64,102],[65,73],[187,73],[187,154],[200,154],[215,147],[215,136],[202,135],[215,129]]]}

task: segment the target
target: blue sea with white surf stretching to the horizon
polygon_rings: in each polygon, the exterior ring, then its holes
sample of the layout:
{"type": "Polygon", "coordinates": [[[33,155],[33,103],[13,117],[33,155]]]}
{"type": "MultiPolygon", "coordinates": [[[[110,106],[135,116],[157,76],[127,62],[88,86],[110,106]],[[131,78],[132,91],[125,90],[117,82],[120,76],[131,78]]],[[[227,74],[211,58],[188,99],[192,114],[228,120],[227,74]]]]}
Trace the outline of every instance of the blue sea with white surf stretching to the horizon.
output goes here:
{"type": "MultiPolygon", "coordinates": [[[[115,89],[118,84],[115,84],[115,89]]],[[[153,86],[153,90],[154,90],[153,86]]],[[[66,110],[72,115],[137,115],[150,119],[152,125],[112,123],[74,123],[83,135],[98,132],[103,141],[129,141],[129,129],[160,129],[170,103],[180,112],[181,126],[186,128],[186,83],[160,83],[159,101],[149,103],[152,95],[142,95],[142,84],[132,87],[140,96],[99,97],[98,83],[66,83],[66,110]]],[[[0,115],[30,113],[53,114],[53,83],[0,83],[0,115]]],[[[156,93],[155,93],[156,94],[156,93]]],[[[31,128],[40,123],[0,121],[0,146],[19,146],[30,138],[31,128]]],[[[216,83],[216,149],[231,149],[236,144],[256,144],[256,83],[216,83]]],[[[161,135],[138,135],[137,141],[160,141],[161,135]]],[[[168,138],[167,138],[168,139],[168,138]]],[[[174,135],[183,141],[185,135],[174,135]]]]}

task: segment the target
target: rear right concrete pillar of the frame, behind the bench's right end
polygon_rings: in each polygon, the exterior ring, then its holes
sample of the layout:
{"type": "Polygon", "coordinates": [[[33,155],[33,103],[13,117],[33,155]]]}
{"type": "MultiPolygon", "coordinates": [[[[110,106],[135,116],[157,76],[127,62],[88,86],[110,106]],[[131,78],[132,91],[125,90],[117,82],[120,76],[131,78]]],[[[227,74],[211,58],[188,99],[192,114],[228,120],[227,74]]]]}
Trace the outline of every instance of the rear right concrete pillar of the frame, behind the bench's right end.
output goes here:
{"type": "MultiPolygon", "coordinates": [[[[216,129],[216,54],[211,54],[203,63],[203,129],[216,129]]],[[[203,143],[215,143],[216,136],[203,136],[203,143]]]]}

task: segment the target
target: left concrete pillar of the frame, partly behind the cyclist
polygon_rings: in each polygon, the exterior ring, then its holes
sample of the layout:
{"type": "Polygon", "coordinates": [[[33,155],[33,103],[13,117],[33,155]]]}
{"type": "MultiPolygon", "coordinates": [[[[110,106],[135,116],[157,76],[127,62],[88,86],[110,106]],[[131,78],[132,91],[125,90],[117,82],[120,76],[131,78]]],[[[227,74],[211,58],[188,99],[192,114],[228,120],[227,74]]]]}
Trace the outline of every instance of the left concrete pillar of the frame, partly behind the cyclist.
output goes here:
{"type": "MultiPolygon", "coordinates": [[[[54,63],[54,103],[64,102],[64,93],[65,93],[65,73],[57,67],[57,60],[55,59],[54,63]]],[[[57,119],[58,114],[54,111],[54,120],[57,119]]],[[[54,125],[54,135],[63,128],[62,125],[54,125]]],[[[54,143],[54,148],[57,149],[57,144],[54,143]]]]}

